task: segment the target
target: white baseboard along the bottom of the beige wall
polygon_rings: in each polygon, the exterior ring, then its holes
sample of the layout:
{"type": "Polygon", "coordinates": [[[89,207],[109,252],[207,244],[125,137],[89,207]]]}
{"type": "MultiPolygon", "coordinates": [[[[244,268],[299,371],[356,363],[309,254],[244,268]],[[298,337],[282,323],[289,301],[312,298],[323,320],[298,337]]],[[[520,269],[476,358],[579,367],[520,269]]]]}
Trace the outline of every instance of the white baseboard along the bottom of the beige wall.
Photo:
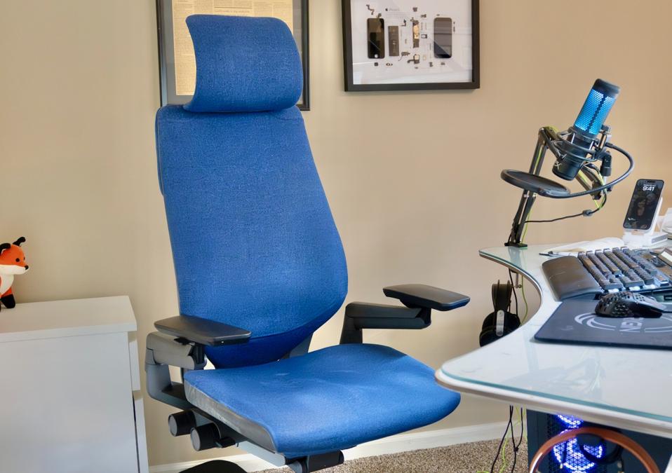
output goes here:
{"type": "MultiPolygon", "coordinates": [[[[413,432],[412,434],[398,434],[384,439],[370,441],[343,451],[346,460],[354,458],[370,457],[375,455],[387,455],[422,448],[436,448],[455,444],[466,444],[472,441],[492,440],[502,437],[506,423],[497,422],[490,424],[468,425],[466,427],[453,427],[450,429],[429,430],[426,432],[413,432]]],[[[276,465],[257,458],[250,453],[242,455],[229,455],[217,458],[234,462],[246,472],[258,472],[262,469],[277,468],[276,465]]],[[[170,465],[155,465],[149,467],[149,473],[180,473],[184,469],[195,467],[205,462],[172,463],[170,465]]]]}

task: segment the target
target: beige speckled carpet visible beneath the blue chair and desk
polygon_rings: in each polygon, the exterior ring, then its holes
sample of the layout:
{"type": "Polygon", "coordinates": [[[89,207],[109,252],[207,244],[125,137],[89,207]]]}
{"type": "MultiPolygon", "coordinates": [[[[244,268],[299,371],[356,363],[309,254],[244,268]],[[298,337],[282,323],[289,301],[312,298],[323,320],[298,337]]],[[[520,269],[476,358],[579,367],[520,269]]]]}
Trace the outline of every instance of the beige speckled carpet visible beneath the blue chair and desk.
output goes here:
{"type": "MultiPolygon", "coordinates": [[[[506,468],[510,472],[513,464],[511,439],[506,442],[506,468]]],[[[477,473],[489,472],[492,460],[497,454],[499,440],[478,441],[471,444],[451,445],[441,448],[427,448],[410,452],[392,453],[368,458],[350,460],[337,467],[323,469],[320,473],[477,473]]],[[[523,440],[517,453],[515,473],[527,472],[527,443],[523,440]]],[[[497,462],[495,472],[502,468],[502,457],[497,462]]],[[[291,472],[288,467],[266,469],[261,473],[291,472]]]]}

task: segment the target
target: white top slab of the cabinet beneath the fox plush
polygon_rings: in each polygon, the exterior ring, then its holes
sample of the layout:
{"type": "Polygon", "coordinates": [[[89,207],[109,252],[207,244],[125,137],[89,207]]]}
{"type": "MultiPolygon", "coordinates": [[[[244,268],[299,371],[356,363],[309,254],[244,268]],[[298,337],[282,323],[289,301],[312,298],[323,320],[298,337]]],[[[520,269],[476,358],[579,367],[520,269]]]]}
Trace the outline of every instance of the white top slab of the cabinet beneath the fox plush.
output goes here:
{"type": "Polygon", "coordinates": [[[0,310],[0,343],[135,330],[128,296],[30,302],[0,310]]]}

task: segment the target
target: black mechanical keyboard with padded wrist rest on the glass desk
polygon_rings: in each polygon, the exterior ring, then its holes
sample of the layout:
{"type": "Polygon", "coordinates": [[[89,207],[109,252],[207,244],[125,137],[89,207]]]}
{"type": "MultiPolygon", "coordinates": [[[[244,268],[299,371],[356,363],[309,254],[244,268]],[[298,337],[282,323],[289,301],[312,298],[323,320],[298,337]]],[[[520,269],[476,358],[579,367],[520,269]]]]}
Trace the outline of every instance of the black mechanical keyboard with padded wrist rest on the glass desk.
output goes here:
{"type": "Polygon", "coordinates": [[[670,268],[648,250],[598,249],[545,261],[544,275],[556,299],[586,294],[672,289],[670,268]]]}

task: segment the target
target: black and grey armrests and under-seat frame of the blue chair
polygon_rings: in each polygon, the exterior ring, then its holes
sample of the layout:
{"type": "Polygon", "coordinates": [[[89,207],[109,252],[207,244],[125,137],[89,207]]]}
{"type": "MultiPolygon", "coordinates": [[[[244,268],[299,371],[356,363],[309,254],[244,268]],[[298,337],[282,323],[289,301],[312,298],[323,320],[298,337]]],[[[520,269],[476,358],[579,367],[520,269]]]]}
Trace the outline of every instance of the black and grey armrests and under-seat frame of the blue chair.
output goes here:
{"type": "MultiPolygon", "coordinates": [[[[340,344],[363,343],[363,329],[424,329],[431,324],[431,309],[452,310],[469,303],[467,296],[426,285],[400,285],[386,287],[383,291],[386,296],[401,301],[403,306],[349,303],[345,309],[340,344]]],[[[197,451],[236,445],[274,465],[288,465],[295,473],[316,472],[344,461],[342,451],[286,458],[256,444],[187,400],[184,373],[206,366],[204,347],[246,343],[251,336],[249,331],[187,315],[159,320],[154,326],[159,331],[147,336],[147,392],[150,397],[181,410],[168,417],[173,436],[189,434],[197,451]],[[180,368],[180,382],[170,378],[170,366],[180,368]]],[[[305,355],[311,337],[283,358],[305,355]]],[[[212,471],[208,463],[201,465],[202,469],[189,469],[189,473],[212,471]]],[[[222,464],[221,460],[219,464],[222,464]]],[[[242,471],[232,463],[228,468],[230,472],[242,471]]],[[[222,473],[227,473],[227,470],[222,473]]]]}

